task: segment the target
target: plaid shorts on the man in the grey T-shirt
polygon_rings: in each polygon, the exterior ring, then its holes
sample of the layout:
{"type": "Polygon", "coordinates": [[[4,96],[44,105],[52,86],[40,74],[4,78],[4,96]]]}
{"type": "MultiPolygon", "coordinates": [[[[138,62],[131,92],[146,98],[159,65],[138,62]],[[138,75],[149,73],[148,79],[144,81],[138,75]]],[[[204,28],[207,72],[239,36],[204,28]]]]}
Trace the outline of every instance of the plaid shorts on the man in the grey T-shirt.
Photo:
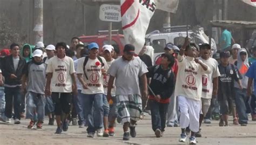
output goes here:
{"type": "Polygon", "coordinates": [[[142,98],[140,95],[117,95],[117,113],[122,124],[130,120],[138,121],[142,113],[142,98]]]}

